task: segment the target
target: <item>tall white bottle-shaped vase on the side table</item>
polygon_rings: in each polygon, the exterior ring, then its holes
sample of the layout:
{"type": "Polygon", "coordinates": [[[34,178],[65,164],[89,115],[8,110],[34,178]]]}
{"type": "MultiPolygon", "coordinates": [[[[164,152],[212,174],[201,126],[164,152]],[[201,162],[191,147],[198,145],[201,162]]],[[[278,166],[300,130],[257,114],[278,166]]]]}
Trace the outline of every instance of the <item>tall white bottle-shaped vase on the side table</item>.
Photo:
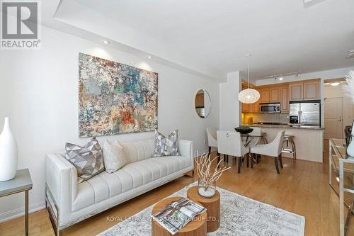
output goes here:
{"type": "Polygon", "coordinates": [[[0,181],[13,179],[17,171],[17,144],[10,129],[10,121],[5,118],[0,135],[0,181]]]}

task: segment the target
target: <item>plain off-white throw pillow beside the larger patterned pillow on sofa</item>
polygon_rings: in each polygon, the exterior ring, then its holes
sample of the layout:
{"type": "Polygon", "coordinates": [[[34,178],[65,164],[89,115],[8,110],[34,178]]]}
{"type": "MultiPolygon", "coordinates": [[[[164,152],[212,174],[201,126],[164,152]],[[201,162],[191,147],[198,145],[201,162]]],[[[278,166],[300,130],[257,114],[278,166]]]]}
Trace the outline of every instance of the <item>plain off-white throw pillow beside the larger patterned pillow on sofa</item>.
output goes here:
{"type": "Polygon", "coordinates": [[[113,173],[127,164],[127,158],[123,147],[119,142],[105,141],[103,145],[103,159],[105,163],[105,172],[113,173]]]}

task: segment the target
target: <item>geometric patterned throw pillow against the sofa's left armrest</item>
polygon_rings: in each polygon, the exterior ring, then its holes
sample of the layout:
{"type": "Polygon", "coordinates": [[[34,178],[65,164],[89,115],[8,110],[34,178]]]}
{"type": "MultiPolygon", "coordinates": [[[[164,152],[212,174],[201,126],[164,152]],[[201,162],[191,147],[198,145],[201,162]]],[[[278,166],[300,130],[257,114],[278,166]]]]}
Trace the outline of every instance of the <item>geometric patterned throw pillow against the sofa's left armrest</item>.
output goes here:
{"type": "Polygon", "coordinates": [[[93,137],[84,147],[67,143],[65,157],[77,170],[77,181],[88,180],[105,170],[103,154],[96,137],[93,137]]]}

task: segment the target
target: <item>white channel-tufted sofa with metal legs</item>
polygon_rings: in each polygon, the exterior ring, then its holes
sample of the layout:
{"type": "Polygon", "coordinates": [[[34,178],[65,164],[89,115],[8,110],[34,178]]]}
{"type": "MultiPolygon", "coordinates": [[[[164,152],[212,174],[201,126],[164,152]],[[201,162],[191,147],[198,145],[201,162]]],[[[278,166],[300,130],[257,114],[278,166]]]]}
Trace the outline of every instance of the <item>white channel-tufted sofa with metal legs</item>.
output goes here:
{"type": "Polygon", "coordinates": [[[121,143],[128,163],[77,184],[63,154],[47,154],[46,206],[55,233],[193,171],[193,142],[178,141],[181,156],[153,157],[154,139],[121,143]]]}

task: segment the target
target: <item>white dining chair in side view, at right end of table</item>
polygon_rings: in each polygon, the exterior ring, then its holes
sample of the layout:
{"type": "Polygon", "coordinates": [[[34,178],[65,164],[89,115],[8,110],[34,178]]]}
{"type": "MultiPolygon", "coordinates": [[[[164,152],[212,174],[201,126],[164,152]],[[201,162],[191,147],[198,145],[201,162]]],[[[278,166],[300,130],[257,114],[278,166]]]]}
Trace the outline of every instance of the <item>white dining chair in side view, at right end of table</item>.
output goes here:
{"type": "Polygon", "coordinates": [[[280,167],[282,168],[282,139],[284,138],[285,131],[279,131],[275,139],[266,145],[256,145],[256,147],[251,147],[251,153],[262,154],[270,157],[274,157],[275,169],[277,173],[279,172],[278,161],[280,162],[280,167]]]}

